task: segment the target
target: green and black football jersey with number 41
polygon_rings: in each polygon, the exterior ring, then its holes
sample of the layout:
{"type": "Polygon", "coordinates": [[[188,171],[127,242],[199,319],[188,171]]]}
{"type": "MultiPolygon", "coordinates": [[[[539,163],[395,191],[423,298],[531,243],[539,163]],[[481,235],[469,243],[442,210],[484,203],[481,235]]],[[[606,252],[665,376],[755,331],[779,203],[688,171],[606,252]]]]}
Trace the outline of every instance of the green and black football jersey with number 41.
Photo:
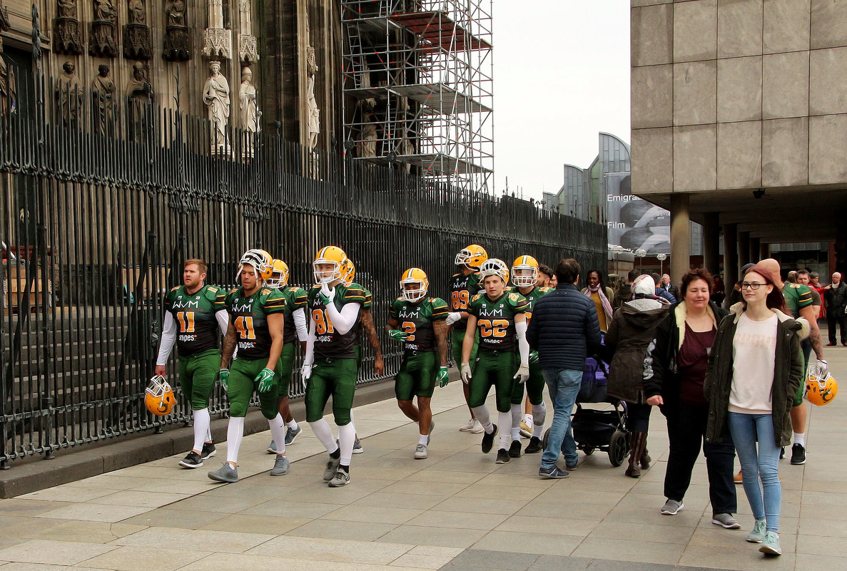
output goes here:
{"type": "Polygon", "coordinates": [[[268,316],[285,311],[285,295],[279,289],[258,288],[245,295],[235,288],[226,296],[230,324],[235,327],[240,359],[266,359],[273,340],[268,329],[268,316]]]}

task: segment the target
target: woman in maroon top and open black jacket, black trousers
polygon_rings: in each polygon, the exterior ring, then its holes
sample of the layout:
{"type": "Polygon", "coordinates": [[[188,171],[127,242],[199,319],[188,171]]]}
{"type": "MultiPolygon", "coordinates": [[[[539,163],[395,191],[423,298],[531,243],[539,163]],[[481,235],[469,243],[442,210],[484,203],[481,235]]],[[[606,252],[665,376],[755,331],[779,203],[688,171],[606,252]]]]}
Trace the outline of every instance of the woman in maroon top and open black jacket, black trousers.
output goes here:
{"type": "Polygon", "coordinates": [[[706,366],[717,324],[727,315],[709,298],[711,273],[704,268],[689,270],[679,288],[682,300],[656,329],[644,361],[644,390],[647,404],[659,405],[667,419],[670,453],[665,472],[662,514],[676,515],[684,508],[683,498],[691,483],[691,470],[706,455],[709,475],[711,523],[730,530],[740,526],[733,481],[735,448],[726,435],[704,442],[709,404],[703,393],[706,366]]]}

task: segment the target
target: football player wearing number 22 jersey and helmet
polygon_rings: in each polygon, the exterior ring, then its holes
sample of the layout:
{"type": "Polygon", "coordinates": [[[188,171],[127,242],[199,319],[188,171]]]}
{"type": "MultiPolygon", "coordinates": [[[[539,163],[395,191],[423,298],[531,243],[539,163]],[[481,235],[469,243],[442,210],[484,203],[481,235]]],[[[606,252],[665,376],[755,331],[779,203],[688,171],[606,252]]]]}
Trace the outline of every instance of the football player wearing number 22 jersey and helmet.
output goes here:
{"type": "MultiPolygon", "coordinates": [[[[510,458],[520,456],[521,443],[509,448],[512,436],[512,393],[516,382],[529,379],[529,343],[526,340],[527,300],[518,292],[507,292],[509,268],[506,262],[492,258],[479,268],[485,288],[468,303],[468,330],[462,344],[462,381],[470,386],[468,404],[483,426],[482,451],[489,453],[494,443],[497,425],[491,423],[485,398],[492,385],[495,387],[497,412],[500,422],[500,447],[497,464],[508,464],[510,458]],[[479,332],[479,353],[471,370],[470,360],[479,332]],[[520,365],[515,364],[516,345],[520,351],[520,365]],[[517,372],[516,372],[517,371],[517,372]]],[[[520,401],[518,401],[519,403],[520,401]]],[[[520,409],[518,409],[519,411],[520,409]]]]}

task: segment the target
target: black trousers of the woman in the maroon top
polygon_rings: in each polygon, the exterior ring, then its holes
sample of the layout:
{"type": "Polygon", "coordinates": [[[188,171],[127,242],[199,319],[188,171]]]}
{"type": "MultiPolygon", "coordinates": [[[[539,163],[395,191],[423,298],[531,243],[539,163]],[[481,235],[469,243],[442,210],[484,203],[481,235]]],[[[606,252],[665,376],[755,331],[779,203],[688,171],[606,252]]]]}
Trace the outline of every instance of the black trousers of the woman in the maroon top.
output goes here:
{"type": "Polygon", "coordinates": [[[728,431],[723,442],[704,442],[708,416],[709,407],[706,404],[680,403],[675,410],[668,411],[667,436],[671,449],[665,472],[665,497],[682,502],[702,445],[709,475],[711,511],[735,513],[738,509],[733,481],[735,447],[728,431]]]}

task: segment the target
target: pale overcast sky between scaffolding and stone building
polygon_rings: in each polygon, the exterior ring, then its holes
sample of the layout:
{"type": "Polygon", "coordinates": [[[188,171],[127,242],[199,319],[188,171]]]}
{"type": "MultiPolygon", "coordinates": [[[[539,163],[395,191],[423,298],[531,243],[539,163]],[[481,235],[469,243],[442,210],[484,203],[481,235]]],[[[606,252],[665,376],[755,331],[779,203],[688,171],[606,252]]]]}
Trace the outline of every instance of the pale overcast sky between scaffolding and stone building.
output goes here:
{"type": "Polygon", "coordinates": [[[597,134],[629,143],[629,0],[495,2],[495,188],[527,198],[589,167],[597,134]]]}

